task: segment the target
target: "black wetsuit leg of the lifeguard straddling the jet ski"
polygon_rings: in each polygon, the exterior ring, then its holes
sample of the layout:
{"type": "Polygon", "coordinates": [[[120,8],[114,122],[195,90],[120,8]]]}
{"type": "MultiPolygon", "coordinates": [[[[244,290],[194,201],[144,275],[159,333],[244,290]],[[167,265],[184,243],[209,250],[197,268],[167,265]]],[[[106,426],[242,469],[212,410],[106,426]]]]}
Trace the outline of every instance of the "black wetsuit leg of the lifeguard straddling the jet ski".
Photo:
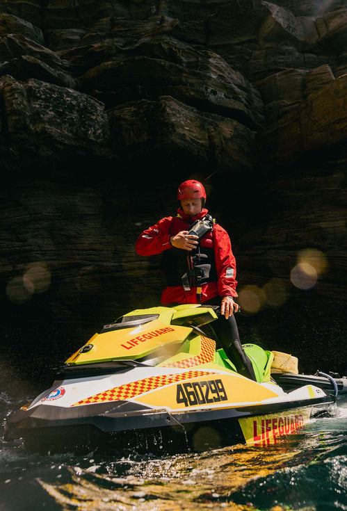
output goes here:
{"type": "MultiPolygon", "coordinates": [[[[208,302],[204,302],[204,305],[220,305],[220,296],[212,298],[208,302]]],[[[218,320],[211,323],[211,327],[215,330],[218,340],[222,345],[225,355],[234,364],[238,373],[251,380],[257,381],[255,371],[252,366],[250,358],[245,354],[243,350],[240,337],[239,329],[236,324],[235,315],[225,318],[221,314],[218,315],[218,320]]]]}

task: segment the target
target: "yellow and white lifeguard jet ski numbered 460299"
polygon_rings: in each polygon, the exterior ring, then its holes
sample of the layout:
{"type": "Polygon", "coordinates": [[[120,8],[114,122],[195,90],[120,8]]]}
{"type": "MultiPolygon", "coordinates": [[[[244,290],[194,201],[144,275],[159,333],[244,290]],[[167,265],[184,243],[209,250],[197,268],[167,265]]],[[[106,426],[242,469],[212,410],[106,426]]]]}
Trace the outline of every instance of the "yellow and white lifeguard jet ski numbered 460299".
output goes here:
{"type": "Polygon", "coordinates": [[[207,334],[217,307],[137,309],[102,331],[56,371],[50,389],[15,411],[5,439],[37,451],[106,443],[202,451],[236,442],[268,445],[329,413],[336,393],[315,384],[285,391],[274,354],[243,348],[257,381],[238,374],[207,334]]]}

